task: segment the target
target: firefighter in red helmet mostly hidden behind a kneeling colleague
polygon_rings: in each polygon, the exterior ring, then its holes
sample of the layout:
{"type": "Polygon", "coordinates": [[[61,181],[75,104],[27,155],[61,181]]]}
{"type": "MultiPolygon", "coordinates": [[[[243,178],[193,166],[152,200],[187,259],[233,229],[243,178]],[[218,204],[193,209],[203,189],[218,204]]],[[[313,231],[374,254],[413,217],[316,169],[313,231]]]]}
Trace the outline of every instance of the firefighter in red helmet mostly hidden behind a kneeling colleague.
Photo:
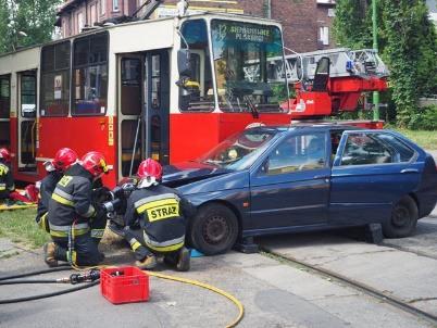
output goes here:
{"type": "Polygon", "coordinates": [[[49,211],[49,201],[53,190],[65,171],[76,162],[77,153],[74,150],[61,148],[54,155],[54,160],[45,163],[47,176],[41,180],[39,187],[40,199],[38,201],[36,223],[47,232],[50,232],[47,211],[49,211]]]}

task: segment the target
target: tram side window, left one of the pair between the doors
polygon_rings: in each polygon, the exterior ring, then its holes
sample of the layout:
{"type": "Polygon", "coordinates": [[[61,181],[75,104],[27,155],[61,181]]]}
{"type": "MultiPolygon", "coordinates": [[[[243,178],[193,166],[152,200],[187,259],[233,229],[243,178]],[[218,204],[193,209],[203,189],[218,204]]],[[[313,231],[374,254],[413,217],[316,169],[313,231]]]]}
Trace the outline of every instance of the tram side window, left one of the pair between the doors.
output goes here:
{"type": "Polygon", "coordinates": [[[70,106],[70,41],[41,51],[41,116],[66,116],[70,106]]]}

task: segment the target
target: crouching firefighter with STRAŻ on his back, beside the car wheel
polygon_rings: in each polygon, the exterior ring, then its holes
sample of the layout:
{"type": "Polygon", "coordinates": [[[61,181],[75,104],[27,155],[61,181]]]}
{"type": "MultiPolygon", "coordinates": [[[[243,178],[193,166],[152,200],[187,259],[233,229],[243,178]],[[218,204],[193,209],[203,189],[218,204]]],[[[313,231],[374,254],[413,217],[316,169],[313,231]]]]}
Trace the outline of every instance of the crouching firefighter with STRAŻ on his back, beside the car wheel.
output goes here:
{"type": "Polygon", "coordinates": [[[186,218],[193,206],[174,189],[160,185],[162,166],[148,159],[138,167],[139,182],[127,200],[125,238],[134,251],[135,264],[142,269],[157,266],[155,255],[189,270],[190,255],[185,248],[186,218]]]}

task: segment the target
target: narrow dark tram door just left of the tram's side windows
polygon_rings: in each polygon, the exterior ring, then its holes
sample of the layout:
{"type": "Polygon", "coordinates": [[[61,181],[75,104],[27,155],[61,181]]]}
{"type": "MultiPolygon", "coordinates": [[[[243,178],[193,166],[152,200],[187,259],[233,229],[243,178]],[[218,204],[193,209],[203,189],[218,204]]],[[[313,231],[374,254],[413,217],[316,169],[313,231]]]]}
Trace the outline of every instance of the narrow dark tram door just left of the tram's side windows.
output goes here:
{"type": "Polygon", "coordinates": [[[37,72],[17,73],[18,171],[36,171],[37,72]]]}

